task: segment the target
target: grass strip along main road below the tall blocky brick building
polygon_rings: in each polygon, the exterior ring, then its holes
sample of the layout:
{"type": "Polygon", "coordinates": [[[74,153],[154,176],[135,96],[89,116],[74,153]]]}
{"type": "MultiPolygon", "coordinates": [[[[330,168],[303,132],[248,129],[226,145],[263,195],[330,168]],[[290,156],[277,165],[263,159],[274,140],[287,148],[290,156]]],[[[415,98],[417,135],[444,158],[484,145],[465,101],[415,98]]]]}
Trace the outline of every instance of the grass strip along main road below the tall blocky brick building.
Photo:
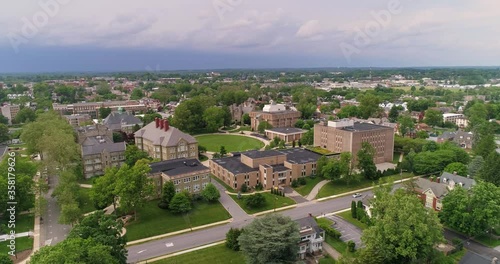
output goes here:
{"type": "MultiPolygon", "coordinates": [[[[403,172],[403,179],[410,178],[413,176],[414,175],[412,173],[403,172]]],[[[396,180],[401,179],[401,176],[399,176],[399,174],[392,175],[392,176],[385,176],[384,178],[387,178],[387,177],[390,177],[392,181],[396,181],[396,180]]],[[[362,188],[372,187],[374,183],[376,183],[376,182],[371,181],[371,180],[367,180],[365,178],[362,178],[360,181],[357,181],[357,182],[351,182],[351,183],[349,183],[349,186],[343,180],[331,181],[328,184],[326,184],[325,186],[323,186],[323,188],[321,188],[321,190],[319,190],[319,193],[316,196],[316,198],[323,198],[323,197],[342,194],[342,193],[346,193],[346,192],[350,192],[350,191],[355,191],[355,190],[362,189],[362,188]]]]}

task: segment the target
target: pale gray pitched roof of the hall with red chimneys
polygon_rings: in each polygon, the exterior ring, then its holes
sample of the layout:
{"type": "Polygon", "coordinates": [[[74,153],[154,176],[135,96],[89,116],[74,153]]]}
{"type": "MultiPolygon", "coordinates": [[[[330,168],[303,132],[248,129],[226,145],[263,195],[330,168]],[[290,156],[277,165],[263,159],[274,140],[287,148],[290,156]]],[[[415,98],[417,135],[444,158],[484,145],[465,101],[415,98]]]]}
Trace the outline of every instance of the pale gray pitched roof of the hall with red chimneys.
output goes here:
{"type": "Polygon", "coordinates": [[[170,128],[165,131],[160,127],[156,127],[156,122],[153,121],[149,123],[147,126],[138,130],[134,133],[135,137],[141,137],[153,142],[153,145],[161,145],[163,147],[173,147],[177,146],[179,140],[184,139],[189,144],[197,143],[196,139],[186,134],[179,129],[170,126],[170,128]]]}

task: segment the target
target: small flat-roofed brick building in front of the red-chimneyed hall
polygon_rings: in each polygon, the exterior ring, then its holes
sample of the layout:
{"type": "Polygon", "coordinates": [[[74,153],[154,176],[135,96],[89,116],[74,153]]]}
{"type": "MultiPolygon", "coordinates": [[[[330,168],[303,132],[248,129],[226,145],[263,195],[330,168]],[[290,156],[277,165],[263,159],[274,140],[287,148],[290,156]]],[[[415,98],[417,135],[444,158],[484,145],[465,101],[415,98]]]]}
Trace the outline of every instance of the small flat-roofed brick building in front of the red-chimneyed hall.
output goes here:
{"type": "Polygon", "coordinates": [[[161,195],[163,184],[167,181],[174,183],[176,193],[187,191],[191,194],[201,194],[210,183],[210,169],[197,159],[165,160],[151,163],[149,166],[158,196],[161,195]]]}

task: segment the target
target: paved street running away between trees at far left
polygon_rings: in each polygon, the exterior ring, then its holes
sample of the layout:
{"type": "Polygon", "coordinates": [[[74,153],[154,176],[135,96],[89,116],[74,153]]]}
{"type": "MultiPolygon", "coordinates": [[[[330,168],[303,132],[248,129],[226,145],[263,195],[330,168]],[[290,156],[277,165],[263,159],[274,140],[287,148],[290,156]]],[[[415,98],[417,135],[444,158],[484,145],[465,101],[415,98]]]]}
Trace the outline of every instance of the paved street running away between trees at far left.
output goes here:
{"type": "Polygon", "coordinates": [[[43,215],[43,221],[40,223],[41,247],[55,245],[63,241],[71,230],[71,226],[58,223],[60,208],[57,205],[57,199],[52,197],[52,192],[54,192],[58,183],[58,177],[49,177],[49,191],[45,195],[47,199],[47,212],[43,215]]]}

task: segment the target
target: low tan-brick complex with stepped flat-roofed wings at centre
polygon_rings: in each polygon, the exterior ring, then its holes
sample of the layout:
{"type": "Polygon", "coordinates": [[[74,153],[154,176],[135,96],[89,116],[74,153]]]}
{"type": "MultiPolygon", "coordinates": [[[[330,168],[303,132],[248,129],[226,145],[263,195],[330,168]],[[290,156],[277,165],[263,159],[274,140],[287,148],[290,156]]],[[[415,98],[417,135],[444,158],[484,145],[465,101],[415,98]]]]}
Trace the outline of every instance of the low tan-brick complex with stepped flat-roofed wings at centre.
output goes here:
{"type": "Polygon", "coordinates": [[[243,184],[264,189],[288,186],[300,177],[316,174],[320,155],[301,148],[247,151],[233,157],[210,160],[210,172],[235,190],[243,184]]]}

